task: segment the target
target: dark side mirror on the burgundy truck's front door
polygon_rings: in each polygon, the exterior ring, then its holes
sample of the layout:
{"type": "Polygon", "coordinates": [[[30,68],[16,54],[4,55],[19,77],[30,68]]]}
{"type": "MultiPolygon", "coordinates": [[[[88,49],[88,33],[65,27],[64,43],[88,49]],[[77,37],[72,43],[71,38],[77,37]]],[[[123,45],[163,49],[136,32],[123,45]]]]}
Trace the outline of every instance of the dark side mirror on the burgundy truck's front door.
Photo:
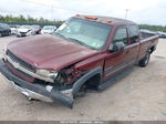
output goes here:
{"type": "Polygon", "coordinates": [[[112,49],[110,49],[111,52],[118,52],[118,51],[123,51],[125,48],[124,42],[116,42],[115,44],[113,44],[112,49]]]}

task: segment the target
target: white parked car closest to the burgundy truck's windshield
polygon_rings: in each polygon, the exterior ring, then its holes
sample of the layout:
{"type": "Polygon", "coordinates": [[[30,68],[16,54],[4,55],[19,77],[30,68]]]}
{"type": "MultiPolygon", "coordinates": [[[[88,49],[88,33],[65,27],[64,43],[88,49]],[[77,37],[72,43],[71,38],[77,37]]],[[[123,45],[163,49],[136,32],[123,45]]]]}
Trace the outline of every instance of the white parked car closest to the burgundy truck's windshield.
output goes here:
{"type": "Polygon", "coordinates": [[[56,30],[55,25],[44,25],[41,30],[41,34],[52,34],[56,30]]]}

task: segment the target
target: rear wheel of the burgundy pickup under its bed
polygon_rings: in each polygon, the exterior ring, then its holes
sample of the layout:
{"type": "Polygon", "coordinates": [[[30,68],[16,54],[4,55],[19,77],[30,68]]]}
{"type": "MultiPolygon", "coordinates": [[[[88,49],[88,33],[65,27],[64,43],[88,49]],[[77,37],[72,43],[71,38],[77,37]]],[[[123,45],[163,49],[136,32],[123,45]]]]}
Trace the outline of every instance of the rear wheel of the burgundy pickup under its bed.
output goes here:
{"type": "Polygon", "coordinates": [[[138,62],[138,65],[145,68],[149,62],[149,58],[151,58],[151,51],[147,51],[146,55],[138,62]]]}

